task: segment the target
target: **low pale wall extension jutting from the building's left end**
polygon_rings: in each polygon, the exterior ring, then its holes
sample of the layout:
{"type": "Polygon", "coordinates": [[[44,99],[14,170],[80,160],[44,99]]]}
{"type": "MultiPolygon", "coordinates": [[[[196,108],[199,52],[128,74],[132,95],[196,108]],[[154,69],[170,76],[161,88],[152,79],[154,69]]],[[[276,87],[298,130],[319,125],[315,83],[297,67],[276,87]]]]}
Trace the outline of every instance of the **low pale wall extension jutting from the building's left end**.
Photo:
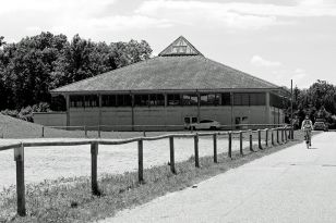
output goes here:
{"type": "Polygon", "coordinates": [[[65,126],[67,112],[34,112],[33,120],[46,126],[65,126]]]}

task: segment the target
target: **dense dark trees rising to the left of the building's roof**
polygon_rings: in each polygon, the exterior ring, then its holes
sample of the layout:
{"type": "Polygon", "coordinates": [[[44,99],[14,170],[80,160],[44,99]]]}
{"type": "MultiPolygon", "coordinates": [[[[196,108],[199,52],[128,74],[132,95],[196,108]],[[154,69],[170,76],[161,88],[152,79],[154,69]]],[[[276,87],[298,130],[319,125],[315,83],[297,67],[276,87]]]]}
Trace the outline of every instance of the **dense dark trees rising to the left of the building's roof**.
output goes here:
{"type": "Polygon", "coordinates": [[[41,33],[7,44],[0,36],[0,111],[50,103],[50,90],[149,59],[145,40],[95,42],[41,33]]]}

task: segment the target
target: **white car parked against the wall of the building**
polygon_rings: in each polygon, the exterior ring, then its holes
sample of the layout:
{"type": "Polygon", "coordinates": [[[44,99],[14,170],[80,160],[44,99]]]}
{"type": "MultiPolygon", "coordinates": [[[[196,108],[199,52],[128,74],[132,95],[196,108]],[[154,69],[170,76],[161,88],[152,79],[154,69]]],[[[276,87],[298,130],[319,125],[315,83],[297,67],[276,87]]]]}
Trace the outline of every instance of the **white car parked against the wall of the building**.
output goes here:
{"type": "Polygon", "coordinates": [[[215,120],[201,120],[195,116],[184,117],[184,128],[187,129],[218,129],[220,128],[220,123],[215,120]]]}

